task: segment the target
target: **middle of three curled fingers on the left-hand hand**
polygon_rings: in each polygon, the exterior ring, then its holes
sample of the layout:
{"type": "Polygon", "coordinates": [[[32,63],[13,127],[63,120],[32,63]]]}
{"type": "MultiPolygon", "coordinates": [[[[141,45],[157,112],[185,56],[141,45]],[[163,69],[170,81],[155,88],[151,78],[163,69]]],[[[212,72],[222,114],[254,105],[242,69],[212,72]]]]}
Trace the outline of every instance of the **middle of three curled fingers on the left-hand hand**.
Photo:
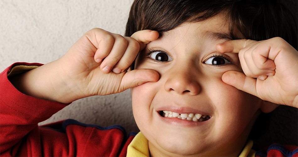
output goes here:
{"type": "Polygon", "coordinates": [[[108,56],[100,65],[100,68],[105,73],[109,73],[116,63],[121,59],[128,44],[128,41],[122,35],[112,34],[112,36],[114,37],[113,47],[108,56]]]}

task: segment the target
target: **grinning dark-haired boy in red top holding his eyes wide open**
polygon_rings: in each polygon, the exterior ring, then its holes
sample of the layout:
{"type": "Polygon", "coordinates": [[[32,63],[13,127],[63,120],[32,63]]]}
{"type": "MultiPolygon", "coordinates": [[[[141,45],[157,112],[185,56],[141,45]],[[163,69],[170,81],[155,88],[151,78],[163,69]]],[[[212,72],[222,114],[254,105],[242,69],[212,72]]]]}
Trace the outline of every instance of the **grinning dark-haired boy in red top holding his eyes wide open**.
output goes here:
{"type": "Polygon", "coordinates": [[[0,75],[1,155],[297,155],[280,145],[256,153],[248,139],[262,111],[298,103],[296,29],[278,9],[272,1],[136,0],[131,37],[93,29],[54,62],[13,64],[0,75]],[[74,100],[128,88],[135,138],[73,120],[37,126],[74,100]]]}

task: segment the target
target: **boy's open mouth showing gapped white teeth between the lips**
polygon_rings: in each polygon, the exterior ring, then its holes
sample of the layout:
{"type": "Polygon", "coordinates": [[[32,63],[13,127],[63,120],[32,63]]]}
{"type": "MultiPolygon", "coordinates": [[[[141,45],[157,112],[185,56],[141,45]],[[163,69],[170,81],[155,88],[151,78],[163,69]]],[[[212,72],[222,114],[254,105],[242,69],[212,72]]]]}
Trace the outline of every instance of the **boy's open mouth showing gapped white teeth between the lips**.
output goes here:
{"type": "Polygon", "coordinates": [[[160,111],[160,115],[167,118],[179,118],[192,122],[204,122],[210,119],[209,115],[201,115],[198,113],[176,113],[172,111],[160,111]]]}

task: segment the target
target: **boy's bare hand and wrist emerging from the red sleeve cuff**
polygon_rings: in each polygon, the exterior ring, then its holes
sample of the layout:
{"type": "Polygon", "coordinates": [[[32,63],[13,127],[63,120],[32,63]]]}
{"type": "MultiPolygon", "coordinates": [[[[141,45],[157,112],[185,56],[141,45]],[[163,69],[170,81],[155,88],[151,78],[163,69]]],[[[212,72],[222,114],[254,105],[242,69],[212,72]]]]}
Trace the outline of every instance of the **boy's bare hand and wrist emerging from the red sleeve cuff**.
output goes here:
{"type": "Polygon", "coordinates": [[[56,61],[25,73],[16,84],[27,95],[70,103],[92,95],[109,95],[155,82],[159,74],[152,69],[127,72],[139,51],[159,33],[142,30],[123,37],[102,29],[85,33],[56,61]],[[22,82],[19,82],[22,80],[22,82]]]}

